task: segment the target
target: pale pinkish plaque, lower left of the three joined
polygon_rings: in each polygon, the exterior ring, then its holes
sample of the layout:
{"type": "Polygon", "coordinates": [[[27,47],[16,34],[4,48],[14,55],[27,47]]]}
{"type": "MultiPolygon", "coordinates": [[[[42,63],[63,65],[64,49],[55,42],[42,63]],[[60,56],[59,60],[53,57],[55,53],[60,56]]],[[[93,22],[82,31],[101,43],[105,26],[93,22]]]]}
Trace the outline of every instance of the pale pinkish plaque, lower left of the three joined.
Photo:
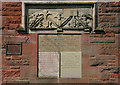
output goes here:
{"type": "Polygon", "coordinates": [[[39,78],[59,77],[59,54],[39,52],[39,78]]]}

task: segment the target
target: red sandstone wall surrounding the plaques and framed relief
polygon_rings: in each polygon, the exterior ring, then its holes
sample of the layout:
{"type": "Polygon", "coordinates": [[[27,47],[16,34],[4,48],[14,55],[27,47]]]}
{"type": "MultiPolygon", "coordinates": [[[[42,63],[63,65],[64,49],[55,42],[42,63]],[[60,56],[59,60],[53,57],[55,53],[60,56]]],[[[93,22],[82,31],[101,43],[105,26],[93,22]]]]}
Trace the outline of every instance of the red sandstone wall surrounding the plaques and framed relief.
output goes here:
{"type": "MultiPolygon", "coordinates": [[[[2,3],[3,18],[3,83],[6,82],[59,82],[59,83],[107,83],[119,82],[119,27],[120,2],[98,3],[98,24],[107,34],[82,35],[81,79],[37,78],[37,34],[19,34],[22,3],[2,3]],[[7,55],[7,43],[22,43],[22,55],[7,55]]],[[[11,48],[12,50],[12,48],[11,48]]]]}

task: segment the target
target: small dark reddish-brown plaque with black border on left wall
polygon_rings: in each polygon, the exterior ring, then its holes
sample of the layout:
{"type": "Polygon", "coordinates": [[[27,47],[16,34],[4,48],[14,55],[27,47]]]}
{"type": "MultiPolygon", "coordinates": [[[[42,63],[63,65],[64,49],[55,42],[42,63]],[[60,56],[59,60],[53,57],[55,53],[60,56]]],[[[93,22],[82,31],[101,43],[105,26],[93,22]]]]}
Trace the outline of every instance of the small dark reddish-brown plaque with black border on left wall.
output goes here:
{"type": "Polygon", "coordinates": [[[7,44],[6,55],[21,55],[22,45],[21,44],[7,44]]]}

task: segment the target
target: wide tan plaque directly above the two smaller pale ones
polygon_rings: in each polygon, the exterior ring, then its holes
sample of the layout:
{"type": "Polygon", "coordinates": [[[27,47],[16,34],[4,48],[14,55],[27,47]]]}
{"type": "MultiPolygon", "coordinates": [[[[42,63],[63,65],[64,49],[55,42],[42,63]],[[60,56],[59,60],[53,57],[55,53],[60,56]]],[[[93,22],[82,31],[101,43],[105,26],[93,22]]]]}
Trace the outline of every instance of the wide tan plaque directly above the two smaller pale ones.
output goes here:
{"type": "Polygon", "coordinates": [[[39,52],[80,52],[81,35],[39,35],[39,52]]]}

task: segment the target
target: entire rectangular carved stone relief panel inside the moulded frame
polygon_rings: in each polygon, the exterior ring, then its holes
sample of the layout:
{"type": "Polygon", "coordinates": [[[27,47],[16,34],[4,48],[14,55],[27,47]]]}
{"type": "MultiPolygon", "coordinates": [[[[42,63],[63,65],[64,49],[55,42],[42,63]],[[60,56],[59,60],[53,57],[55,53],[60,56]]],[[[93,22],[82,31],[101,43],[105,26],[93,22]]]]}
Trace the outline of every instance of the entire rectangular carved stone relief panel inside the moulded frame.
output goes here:
{"type": "Polygon", "coordinates": [[[28,27],[30,30],[40,29],[92,29],[92,8],[52,8],[29,9],[28,27]]]}

